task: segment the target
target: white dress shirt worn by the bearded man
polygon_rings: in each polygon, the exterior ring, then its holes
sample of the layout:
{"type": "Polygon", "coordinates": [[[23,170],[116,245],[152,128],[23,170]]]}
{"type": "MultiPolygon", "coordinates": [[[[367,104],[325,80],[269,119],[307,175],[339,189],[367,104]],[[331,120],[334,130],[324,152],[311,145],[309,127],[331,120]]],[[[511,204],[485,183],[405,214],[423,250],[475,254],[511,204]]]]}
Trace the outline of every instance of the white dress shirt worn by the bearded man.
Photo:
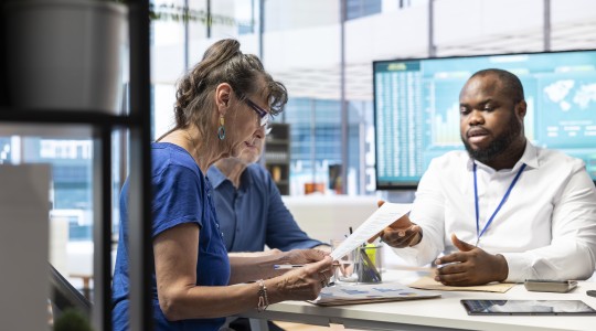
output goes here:
{"type": "MultiPolygon", "coordinates": [[[[412,248],[394,248],[396,254],[426,265],[457,250],[451,233],[477,243],[473,162],[466,151],[430,162],[409,214],[422,226],[423,239],[412,248]]],[[[525,170],[478,246],[504,256],[507,281],[589,278],[596,265],[596,189],[579,159],[528,141],[513,169],[496,171],[476,161],[480,232],[523,163],[525,170]]]]}

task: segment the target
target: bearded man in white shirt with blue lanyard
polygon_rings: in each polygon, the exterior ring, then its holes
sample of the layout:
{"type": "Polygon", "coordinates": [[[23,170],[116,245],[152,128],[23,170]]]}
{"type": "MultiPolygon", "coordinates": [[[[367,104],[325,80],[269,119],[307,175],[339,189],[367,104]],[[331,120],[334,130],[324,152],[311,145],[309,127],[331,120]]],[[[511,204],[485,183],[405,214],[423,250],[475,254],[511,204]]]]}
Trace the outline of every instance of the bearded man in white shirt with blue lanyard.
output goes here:
{"type": "Polygon", "coordinates": [[[507,71],[473,74],[459,104],[467,152],[432,161],[409,218],[383,241],[412,263],[444,265],[444,285],[589,278],[596,189],[584,162],[528,141],[523,87],[507,71]]]}

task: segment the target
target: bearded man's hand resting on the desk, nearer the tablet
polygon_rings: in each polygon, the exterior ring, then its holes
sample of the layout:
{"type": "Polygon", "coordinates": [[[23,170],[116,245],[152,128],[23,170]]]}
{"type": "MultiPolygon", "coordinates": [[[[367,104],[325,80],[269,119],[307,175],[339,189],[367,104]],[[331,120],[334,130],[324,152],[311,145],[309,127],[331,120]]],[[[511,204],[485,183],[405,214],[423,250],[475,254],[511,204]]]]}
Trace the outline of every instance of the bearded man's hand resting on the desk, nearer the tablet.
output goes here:
{"type": "Polygon", "coordinates": [[[451,234],[451,242],[460,250],[437,258],[435,280],[449,286],[485,285],[491,281],[503,281],[509,275],[509,266],[502,255],[488,254],[485,250],[461,242],[451,234]]]}

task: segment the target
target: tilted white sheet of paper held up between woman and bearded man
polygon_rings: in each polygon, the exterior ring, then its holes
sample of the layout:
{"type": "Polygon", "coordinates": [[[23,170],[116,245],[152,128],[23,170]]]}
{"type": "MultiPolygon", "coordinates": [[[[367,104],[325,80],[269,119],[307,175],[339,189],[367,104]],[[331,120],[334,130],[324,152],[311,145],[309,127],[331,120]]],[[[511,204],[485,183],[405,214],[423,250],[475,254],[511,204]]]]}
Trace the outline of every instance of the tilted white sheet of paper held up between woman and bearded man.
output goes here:
{"type": "Polygon", "coordinates": [[[362,243],[409,212],[409,207],[411,204],[385,202],[354,233],[331,252],[331,257],[334,260],[344,257],[348,253],[354,250],[362,243]]]}

